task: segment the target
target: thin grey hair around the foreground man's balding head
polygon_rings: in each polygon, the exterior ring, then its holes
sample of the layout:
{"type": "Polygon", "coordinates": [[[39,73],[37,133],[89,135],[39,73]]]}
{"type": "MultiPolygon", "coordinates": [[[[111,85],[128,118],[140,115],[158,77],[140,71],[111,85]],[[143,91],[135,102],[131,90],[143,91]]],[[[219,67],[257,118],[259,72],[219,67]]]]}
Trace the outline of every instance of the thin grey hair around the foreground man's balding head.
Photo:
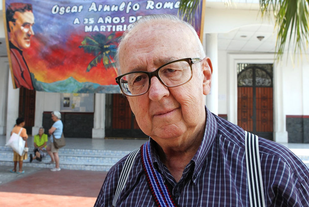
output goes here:
{"type": "Polygon", "coordinates": [[[145,15],[142,16],[140,19],[138,19],[136,22],[134,22],[133,24],[129,25],[127,27],[127,30],[122,34],[121,38],[119,39],[119,45],[118,48],[116,50],[116,54],[115,54],[115,63],[116,63],[116,67],[117,67],[117,72],[118,75],[121,75],[121,70],[120,70],[120,63],[119,63],[119,51],[121,49],[121,43],[122,41],[126,38],[126,36],[128,34],[130,34],[130,31],[133,30],[134,27],[140,25],[140,24],[144,24],[147,23],[148,25],[152,24],[155,21],[158,20],[166,20],[169,22],[174,22],[174,23],[179,23],[184,25],[185,27],[187,27],[188,29],[191,30],[193,36],[196,39],[197,45],[199,45],[199,48],[197,49],[197,54],[200,56],[200,58],[204,58],[206,57],[205,55],[205,51],[203,48],[203,45],[201,44],[200,38],[198,37],[194,27],[192,27],[191,24],[189,24],[188,22],[185,22],[181,19],[179,19],[176,15],[173,14],[152,14],[152,15],[145,15]]]}

